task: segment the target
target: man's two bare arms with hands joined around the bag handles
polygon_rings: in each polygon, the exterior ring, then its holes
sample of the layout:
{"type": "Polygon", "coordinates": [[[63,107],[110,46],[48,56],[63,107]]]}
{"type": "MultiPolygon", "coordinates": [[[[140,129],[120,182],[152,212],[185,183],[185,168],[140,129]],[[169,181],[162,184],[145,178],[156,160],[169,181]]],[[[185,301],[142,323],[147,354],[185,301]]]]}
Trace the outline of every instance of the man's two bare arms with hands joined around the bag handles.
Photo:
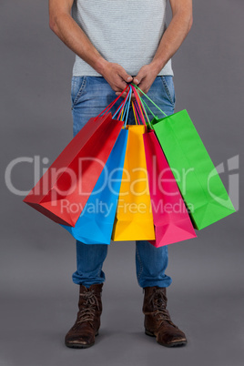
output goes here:
{"type": "MultiPolygon", "coordinates": [[[[147,94],[158,72],[166,65],[188,34],[192,24],[192,0],[169,0],[172,8],[172,20],[162,36],[158,50],[149,65],[142,66],[137,76],[132,78],[126,70],[109,63],[97,51],[84,31],[76,24],[70,12],[74,0],[49,0],[50,28],[75,54],[92,66],[117,95],[133,82],[147,94]]],[[[122,97],[125,97],[124,93],[122,97]]],[[[135,96],[132,95],[132,100],[135,96]]]]}

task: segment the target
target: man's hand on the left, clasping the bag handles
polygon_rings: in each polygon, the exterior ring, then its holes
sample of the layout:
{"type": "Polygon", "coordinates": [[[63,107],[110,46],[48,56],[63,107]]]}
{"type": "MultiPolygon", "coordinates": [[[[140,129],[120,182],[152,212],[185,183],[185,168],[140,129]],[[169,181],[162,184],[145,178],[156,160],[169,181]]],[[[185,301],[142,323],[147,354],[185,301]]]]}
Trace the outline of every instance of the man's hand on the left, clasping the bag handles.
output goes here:
{"type": "MultiPolygon", "coordinates": [[[[103,66],[101,75],[107,80],[112,89],[117,92],[117,96],[125,89],[127,83],[130,83],[133,79],[132,76],[127,74],[124,67],[107,61],[103,66]]],[[[124,94],[126,96],[126,93],[124,94]]]]}

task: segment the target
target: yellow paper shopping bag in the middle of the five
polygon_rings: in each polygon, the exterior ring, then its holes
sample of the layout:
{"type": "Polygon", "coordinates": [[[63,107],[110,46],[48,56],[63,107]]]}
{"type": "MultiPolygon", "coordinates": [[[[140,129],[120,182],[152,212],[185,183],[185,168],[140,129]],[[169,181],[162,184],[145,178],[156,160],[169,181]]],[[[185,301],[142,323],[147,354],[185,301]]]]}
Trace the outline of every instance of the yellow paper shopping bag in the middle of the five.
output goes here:
{"type": "Polygon", "coordinates": [[[112,240],[151,240],[155,239],[155,230],[143,142],[146,127],[127,128],[127,151],[112,240]]]}

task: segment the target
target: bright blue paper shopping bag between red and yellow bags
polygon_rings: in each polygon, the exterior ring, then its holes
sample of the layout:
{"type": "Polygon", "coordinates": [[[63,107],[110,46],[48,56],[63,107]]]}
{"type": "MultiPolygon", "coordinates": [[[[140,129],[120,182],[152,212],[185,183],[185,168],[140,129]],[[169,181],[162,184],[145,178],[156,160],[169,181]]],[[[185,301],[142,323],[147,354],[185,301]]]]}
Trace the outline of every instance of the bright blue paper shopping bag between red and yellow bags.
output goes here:
{"type": "Polygon", "coordinates": [[[76,240],[85,244],[110,244],[126,156],[127,136],[128,130],[122,128],[75,227],[61,225],[76,240]]]}

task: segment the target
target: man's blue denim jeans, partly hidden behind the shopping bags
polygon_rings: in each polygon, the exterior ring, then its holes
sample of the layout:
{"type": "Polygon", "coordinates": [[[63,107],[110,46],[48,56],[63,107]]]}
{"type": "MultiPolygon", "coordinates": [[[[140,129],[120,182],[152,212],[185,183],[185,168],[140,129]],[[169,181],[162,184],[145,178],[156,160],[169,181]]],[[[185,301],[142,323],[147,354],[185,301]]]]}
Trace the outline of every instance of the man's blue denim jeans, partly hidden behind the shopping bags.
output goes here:
{"type": "MultiPolygon", "coordinates": [[[[147,96],[167,115],[174,113],[175,89],[173,76],[157,76],[147,96]]],[[[74,136],[86,124],[90,117],[96,117],[116,97],[115,92],[102,76],[73,76],[71,101],[74,136]]],[[[121,100],[112,108],[112,114],[116,111],[121,100]]],[[[149,105],[152,112],[158,117],[161,117],[158,108],[152,106],[151,103],[149,105]]],[[[148,113],[148,117],[152,117],[150,113],[148,113]]],[[[131,107],[129,109],[127,124],[135,124],[131,107]]],[[[87,245],[76,241],[77,269],[73,273],[73,281],[87,288],[92,284],[104,282],[105,273],[102,267],[106,257],[106,244],[87,245]]],[[[146,240],[136,241],[137,281],[140,287],[168,287],[172,280],[165,274],[167,266],[167,246],[155,248],[146,240]]]]}

